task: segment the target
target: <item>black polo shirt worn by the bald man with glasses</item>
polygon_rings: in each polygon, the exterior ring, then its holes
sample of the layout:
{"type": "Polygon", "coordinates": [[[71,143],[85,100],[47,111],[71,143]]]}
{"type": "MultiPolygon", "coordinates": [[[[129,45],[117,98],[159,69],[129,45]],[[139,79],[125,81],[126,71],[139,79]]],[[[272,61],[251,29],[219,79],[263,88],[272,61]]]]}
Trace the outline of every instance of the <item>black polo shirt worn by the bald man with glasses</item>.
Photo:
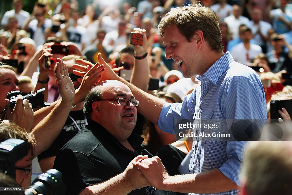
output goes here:
{"type": "MultiPolygon", "coordinates": [[[[84,188],[104,182],[123,172],[138,155],[152,155],[141,146],[143,138],[132,133],[128,141],[136,151],[125,148],[105,128],[93,120],[69,140],[56,156],[54,169],[62,173],[67,194],[79,194],[84,188]]],[[[114,192],[113,192],[114,193],[114,192]]],[[[174,192],[152,186],[131,191],[129,194],[170,195],[174,192]]]]}

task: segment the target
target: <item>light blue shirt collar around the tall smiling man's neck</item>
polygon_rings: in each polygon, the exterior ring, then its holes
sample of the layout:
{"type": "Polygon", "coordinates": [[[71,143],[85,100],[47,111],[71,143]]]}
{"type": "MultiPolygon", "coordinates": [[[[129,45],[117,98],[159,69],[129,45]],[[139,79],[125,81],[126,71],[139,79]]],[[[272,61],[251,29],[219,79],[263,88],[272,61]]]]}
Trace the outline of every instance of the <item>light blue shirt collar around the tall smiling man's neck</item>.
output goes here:
{"type": "Polygon", "coordinates": [[[233,62],[234,59],[232,58],[229,51],[227,51],[219,60],[217,60],[208,70],[202,75],[198,75],[196,77],[196,80],[203,80],[205,77],[207,77],[213,84],[216,84],[223,75],[223,73],[226,72],[226,70],[229,67],[229,64],[233,62]]]}

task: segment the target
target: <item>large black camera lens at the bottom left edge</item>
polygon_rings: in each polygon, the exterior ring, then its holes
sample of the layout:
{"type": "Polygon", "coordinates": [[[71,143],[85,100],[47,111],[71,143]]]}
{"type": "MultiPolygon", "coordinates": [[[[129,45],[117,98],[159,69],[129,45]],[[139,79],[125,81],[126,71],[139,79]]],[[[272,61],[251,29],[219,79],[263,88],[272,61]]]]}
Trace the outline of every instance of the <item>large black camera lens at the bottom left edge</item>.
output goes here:
{"type": "Polygon", "coordinates": [[[63,195],[65,193],[66,185],[62,181],[62,173],[56,169],[49,169],[39,175],[25,190],[25,195],[63,195]]]}

